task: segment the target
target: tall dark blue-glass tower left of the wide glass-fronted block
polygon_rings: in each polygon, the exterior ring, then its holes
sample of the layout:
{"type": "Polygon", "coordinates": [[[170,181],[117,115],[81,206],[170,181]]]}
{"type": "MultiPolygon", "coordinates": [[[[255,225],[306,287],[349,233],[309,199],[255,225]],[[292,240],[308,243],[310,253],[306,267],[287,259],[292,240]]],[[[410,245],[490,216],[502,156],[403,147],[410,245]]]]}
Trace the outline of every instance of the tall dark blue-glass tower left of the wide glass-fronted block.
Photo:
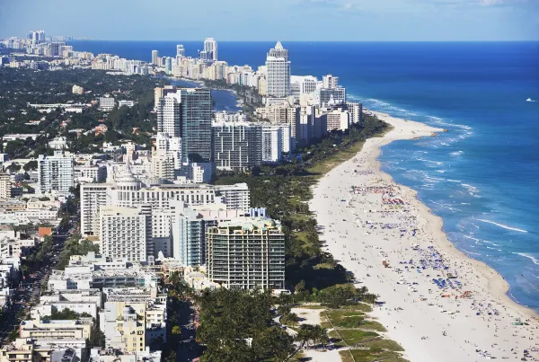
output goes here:
{"type": "Polygon", "coordinates": [[[211,91],[184,88],[181,96],[181,155],[184,161],[213,161],[211,146],[211,91]]]}

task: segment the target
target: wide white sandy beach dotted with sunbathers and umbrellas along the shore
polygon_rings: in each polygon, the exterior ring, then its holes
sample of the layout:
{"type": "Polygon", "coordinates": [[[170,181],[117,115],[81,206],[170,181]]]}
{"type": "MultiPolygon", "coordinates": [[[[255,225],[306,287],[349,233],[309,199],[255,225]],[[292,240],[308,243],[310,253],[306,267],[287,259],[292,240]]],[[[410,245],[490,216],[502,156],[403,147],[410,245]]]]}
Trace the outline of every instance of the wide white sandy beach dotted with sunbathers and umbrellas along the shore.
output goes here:
{"type": "Polygon", "coordinates": [[[371,315],[411,362],[539,360],[536,313],[506,295],[495,270],[455,249],[414,190],[380,171],[381,146],[444,130],[372,113],[393,129],[314,187],[325,250],[379,295],[371,315]]]}

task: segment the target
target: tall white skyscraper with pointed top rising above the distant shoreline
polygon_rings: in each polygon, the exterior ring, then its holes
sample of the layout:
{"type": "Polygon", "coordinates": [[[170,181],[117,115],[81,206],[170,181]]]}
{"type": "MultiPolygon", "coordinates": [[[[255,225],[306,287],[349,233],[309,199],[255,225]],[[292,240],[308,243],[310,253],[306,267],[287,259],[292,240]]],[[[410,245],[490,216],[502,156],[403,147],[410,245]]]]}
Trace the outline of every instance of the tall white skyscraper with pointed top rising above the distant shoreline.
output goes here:
{"type": "Polygon", "coordinates": [[[275,48],[270,49],[266,57],[268,67],[268,97],[286,98],[290,95],[290,62],[288,61],[288,50],[284,49],[280,41],[275,48]]]}

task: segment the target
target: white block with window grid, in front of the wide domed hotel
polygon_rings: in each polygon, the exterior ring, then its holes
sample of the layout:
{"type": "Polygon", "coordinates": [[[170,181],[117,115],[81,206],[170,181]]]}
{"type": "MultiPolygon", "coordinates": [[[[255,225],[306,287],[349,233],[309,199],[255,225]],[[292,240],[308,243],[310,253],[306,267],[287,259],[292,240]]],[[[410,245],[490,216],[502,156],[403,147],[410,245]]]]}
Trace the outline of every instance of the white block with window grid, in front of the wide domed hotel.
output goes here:
{"type": "Polygon", "coordinates": [[[102,207],[100,211],[103,256],[113,260],[146,261],[146,219],[137,207],[102,207]]]}

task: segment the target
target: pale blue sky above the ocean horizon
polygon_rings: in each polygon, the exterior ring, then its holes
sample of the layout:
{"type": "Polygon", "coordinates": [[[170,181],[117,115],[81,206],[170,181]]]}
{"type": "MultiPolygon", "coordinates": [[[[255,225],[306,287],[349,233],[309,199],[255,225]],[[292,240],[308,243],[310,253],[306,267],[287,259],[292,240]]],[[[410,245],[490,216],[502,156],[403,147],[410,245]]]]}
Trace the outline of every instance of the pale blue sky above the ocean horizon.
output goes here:
{"type": "Polygon", "coordinates": [[[0,0],[0,38],[539,40],[539,0],[0,0]]]}

